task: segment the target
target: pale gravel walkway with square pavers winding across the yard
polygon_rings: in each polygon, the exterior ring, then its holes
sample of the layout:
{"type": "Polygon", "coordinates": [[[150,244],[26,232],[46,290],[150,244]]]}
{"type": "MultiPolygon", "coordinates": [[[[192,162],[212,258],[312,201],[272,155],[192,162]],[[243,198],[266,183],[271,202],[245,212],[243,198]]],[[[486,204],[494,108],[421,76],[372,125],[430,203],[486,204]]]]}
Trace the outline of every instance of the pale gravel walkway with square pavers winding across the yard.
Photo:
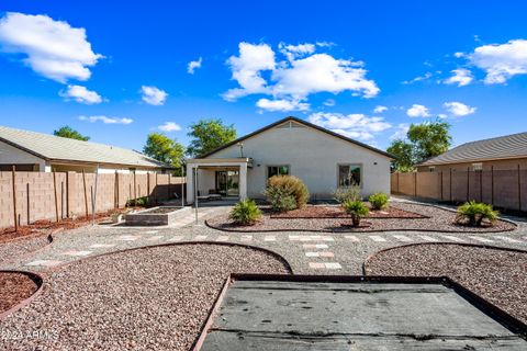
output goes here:
{"type": "MultiPolygon", "coordinates": [[[[301,274],[361,274],[362,262],[372,253],[414,242],[462,242],[527,250],[527,224],[514,231],[496,234],[386,231],[386,233],[226,233],[212,229],[203,219],[229,207],[202,207],[198,224],[194,214],[169,227],[97,225],[54,237],[46,248],[0,269],[47,271],[58,265],[101,253],[173,242],[236,242],[272,250],[301,274]]],[[[522,219],[518,219],[522,220],[522,219]]],[[[525,220],[525,219],[524,219],[525,220]]]]}

